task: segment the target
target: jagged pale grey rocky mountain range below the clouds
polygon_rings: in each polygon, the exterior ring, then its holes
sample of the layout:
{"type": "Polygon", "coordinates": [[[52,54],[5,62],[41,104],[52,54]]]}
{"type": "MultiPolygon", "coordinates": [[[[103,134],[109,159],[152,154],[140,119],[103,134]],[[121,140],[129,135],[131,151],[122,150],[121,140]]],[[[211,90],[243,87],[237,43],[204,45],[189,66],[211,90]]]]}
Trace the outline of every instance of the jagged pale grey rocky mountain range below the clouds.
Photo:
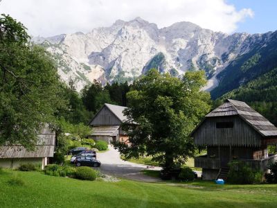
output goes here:
{"type": "Polygon", "coordinates": [[[78,91],[94,79],[103,85],[130,82],[151,68],[172,76],[204,69],[209,79],[205,89],[220,96],[232,88],[222,85],[227,78],[225,69],[232,71],[230,64],[237,58],[270,44],[271,36],[272,33],[227,35],[186,21],[158,28],[137,17],[117,20],[112,26],[94,28],[86,34],[34,37],[33,42],[53,54],[61,78],[66,83],[73,80],[78,91]]]}

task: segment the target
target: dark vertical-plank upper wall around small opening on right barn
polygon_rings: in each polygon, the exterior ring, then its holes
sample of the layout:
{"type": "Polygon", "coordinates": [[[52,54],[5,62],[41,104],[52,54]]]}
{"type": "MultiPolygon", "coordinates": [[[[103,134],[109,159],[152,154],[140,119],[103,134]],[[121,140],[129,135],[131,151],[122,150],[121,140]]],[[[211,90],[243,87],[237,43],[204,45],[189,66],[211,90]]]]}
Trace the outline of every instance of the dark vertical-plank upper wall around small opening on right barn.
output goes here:
{"type": "Polygon", "coordinates": [[[193,137],[195,144],[211,146],[260,146],[262,139],[239,116],[208,117],[193,137]],[[216,128],[217,122],[233,122],[233,128],[216,128]]]}

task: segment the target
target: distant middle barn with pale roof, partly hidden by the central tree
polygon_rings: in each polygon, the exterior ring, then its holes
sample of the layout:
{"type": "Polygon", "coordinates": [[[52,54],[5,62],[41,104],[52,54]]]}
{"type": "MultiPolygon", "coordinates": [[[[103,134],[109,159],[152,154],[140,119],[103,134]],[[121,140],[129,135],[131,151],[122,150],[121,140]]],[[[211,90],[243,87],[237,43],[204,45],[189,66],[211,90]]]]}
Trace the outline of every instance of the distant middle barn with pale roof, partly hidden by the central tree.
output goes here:
{"type": "Polygon", "coordinates": [[[128,137],[120,128],[126,116],[123,111],[126,107],[105,103],[90,122],[92,134],[89,138],[95,141],[123,141],[127,142],[128,137]]]}

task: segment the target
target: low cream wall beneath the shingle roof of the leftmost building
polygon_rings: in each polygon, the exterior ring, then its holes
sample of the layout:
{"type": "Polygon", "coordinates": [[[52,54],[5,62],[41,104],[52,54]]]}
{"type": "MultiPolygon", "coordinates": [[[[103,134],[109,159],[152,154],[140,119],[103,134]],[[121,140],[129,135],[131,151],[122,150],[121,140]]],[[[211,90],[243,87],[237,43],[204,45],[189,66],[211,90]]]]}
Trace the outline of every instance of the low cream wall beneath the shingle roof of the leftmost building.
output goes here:
{"type": "Polygon", "coordinates": [[[30,158],[1,158],[1,168],[18,168],[21,164],[32,163],[42,166],[42,157],[30,157],[30,158]]]}

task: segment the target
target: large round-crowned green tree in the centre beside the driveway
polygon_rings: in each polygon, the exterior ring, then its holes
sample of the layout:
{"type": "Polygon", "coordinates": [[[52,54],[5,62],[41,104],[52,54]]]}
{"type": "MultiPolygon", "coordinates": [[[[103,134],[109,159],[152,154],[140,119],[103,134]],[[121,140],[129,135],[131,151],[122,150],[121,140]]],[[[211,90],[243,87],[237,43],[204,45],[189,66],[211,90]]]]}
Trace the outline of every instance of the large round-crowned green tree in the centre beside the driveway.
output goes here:
{"type": "Polygon", "coordinates": [[[204,71],[187,72],[180,80],[150,70],[127,94],[123,130],[129,146],[114,146],[126,158],[151,156],[164,168],[184,164],[195,150],[190,132],[211,108],[209,94],[201,91],[205,84],[204,71]]]}

